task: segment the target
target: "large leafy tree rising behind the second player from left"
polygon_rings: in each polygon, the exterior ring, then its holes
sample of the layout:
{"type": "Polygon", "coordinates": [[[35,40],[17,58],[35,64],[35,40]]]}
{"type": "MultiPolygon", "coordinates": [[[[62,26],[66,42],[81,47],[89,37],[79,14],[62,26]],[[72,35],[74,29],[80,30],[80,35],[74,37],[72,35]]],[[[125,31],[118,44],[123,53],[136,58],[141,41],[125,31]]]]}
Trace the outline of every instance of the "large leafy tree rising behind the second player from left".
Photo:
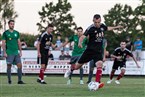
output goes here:
{"type": "Polygon", "coordinates": [[[62,36],[66,37],[74,32],[76,23],[73,21],[74,16],[71,15],[71,4],[68,0],[58,0],[54,5],[53,2],[42,6],[42,11],[39,11],[40,22],[37,23],[38,30],[43,32],[49,23],[52,23],[55,28],[55,33],[60,32],[62,36]]]}

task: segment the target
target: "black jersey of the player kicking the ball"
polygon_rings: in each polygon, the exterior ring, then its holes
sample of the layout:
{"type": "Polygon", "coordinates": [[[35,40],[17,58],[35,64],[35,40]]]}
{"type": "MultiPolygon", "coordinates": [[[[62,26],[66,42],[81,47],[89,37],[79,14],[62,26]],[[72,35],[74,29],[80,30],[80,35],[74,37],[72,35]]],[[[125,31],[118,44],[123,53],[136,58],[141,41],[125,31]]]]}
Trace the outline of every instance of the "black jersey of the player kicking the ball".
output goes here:
{"type": "Polygon", "coordinates": [[[101,24],[99,28],[97,28],[94,24],[89,26],[84,33],[85,36],[89,36],[87,49],[91,49],[96,52],[102,51],[104,32],[106,30],[107,26],[104,24],[101,24]]]}

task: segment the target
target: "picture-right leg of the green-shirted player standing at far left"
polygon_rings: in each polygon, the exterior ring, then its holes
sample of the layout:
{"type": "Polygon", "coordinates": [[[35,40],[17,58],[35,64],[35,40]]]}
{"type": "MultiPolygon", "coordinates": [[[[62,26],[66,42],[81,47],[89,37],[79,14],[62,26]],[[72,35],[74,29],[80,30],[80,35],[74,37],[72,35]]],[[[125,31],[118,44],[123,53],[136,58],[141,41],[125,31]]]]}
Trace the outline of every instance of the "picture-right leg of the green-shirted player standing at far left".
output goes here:
{"type": "Polygon", "coordinates": [[[17,75],[18,75],[18,84],[25,84],[23,81],[22,81],[22,63],[21,63],[21,58],[19,55],[16,55],[15,56],[15,63],[17,64],[17,75]]]}

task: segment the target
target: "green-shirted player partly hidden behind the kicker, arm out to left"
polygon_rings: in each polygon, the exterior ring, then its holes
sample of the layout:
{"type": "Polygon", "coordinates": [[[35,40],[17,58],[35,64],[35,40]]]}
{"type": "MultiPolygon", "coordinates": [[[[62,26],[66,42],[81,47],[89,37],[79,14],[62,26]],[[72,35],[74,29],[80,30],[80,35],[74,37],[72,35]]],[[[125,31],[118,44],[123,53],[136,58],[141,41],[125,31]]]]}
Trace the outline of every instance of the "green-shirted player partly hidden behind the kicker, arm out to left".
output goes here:
{"type": "MultiPolygon", "coordinates": [[[[83,40],[83,42],[82,42],[83,48],[79,48],[78,47],[79,38],[82,35],[83,35],[83,28],[82,27],[78,27],[76,34],[71,36],[68,41],[64,42],[59,47],[59,48],[61,48],[61,47],[65,46],[69,42],[74,42],[74,48],[73,48],[73,51],[72,51],[72,57],[71,57],[70,62],[69,62],[69,64],[71,64],[71,68],[73,68],[73,66],[77,63],[77,61],[79,60],[80,56],[82,55],[82,53],[86,49],[87,38],[85,38],[83,40]]],[[[73,74],[73,71],[71,71],[71,74],[69,75],[69,80],[67,81],[68,85],[71,84],[71,82],[72,82],[72,79],[71,79],[72,74],[73,74]]],[[[83,82],[83,68],[80,68],[80,84],[84,84],[84,82],[83,82]]]]}

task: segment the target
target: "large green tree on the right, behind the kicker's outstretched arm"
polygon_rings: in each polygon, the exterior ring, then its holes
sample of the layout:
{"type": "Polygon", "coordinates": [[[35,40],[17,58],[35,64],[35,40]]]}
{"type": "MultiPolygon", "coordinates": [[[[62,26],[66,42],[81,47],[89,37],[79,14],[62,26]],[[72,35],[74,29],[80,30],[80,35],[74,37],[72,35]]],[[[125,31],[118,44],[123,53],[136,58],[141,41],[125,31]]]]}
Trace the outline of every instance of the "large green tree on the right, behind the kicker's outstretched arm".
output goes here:
{"type": "Polygon", "coordinates": [[[141,21],[136,12],[128,5],[116,4],[111,8],[108,14],[104,15],[105,23],[108,26],[122,25],[123,29],[108,31],[106,38],[108,40],[108,50],[113,51],[119,46],[121,40],[130,36],[134,42],[137,36],[142,36],[143,29],[141,21]]]}

